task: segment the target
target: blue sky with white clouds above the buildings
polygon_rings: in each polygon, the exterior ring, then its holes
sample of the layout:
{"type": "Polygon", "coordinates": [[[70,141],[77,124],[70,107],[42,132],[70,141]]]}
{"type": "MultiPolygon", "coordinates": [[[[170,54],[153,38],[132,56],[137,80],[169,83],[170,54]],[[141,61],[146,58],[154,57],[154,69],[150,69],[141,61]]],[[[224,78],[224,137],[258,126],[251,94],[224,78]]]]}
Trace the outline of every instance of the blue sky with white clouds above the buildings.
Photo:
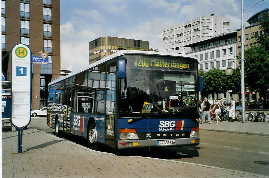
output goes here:
{"type": "MultiPolygon", "coordinates": [[[[244,19],[269,7],[262,1],[250,11],[258,1],[244,0],[244,19]]],[[[101,36],[145,40],[161,51],[163,28],[209,14],[241,28],[241,0],[60,0],[61,63],[73,71],[88,65],[89,42],[101,36]]]]}

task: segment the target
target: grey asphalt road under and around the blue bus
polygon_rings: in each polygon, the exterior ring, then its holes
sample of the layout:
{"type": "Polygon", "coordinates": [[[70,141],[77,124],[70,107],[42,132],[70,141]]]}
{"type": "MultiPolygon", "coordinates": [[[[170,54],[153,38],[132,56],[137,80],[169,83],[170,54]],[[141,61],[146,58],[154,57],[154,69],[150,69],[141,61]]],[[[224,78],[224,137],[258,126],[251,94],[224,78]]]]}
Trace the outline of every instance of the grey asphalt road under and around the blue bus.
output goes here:
{"type": "MultiPolygon", "coordinates": [[[[46,125],[45,117],[32,118],[28,128],[36,128],[46,133],[55,134],[54,129],[46,125]]],[[[77,139],[77,137],[64,136],[64,139],[86,146],[86,141],[77,139]]],[[[265,136],[200,130],[200,145],[198,146],[161,150],[121,150],[121,152],[103,148],[100,151],[112,152],[122,156],[171,159],[269,175],[269,137],[265,136]]]]}

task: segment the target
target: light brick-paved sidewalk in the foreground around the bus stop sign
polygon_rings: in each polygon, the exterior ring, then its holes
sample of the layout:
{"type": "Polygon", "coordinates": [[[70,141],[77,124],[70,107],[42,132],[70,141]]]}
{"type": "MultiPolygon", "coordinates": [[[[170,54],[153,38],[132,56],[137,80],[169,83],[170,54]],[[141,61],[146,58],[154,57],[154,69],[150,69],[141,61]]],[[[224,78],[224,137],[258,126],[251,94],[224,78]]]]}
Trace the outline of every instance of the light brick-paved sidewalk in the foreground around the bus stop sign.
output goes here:
{"type": "Polygon", "coordinates": [[[37,129],[23,131],[22,148],[17,154],[18,132],[2,132],[2,177],[266,177],[194,163],[117,156],[37,129]]]}

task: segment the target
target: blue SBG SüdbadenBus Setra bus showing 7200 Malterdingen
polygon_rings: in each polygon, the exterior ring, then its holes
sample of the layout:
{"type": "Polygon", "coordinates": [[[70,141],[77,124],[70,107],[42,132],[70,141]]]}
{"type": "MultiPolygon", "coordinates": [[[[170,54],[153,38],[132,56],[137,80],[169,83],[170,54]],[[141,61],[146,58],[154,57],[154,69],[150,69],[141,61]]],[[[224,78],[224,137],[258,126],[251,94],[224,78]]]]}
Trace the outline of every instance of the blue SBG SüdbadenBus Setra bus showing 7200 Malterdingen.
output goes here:
{"type": "Polygon", "coordinates": [[[89,148],[199,145],[194,57],[122,50],[48,85],[47,125],[89,148]]]}

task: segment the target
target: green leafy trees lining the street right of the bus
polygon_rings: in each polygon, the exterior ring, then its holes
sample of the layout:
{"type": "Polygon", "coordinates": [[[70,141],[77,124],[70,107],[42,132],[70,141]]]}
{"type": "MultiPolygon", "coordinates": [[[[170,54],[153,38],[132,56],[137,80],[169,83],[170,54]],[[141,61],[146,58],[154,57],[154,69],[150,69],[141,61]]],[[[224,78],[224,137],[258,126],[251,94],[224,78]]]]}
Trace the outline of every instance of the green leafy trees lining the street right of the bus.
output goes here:
{"type": "MultiPolygon", "coordinates": [[[[245,89],[258,92],[264,98],[264,108],[267,108],[269,88],[269,17],[260,19],[260,29],[263,34],[256,36],[257,46],[253,46],[244,53],[245,89]]],[[[241,54],[237,56],[241,58],[241,54]]],[[[239,64],[240,65],[240,64],[239,64]]],[[[233,69],[231,76],[225,75],[220,69],[211,69],[208,72],[199,70],[203,77],[203,94],[225,93],[231,90],[232,94],[240,94],[240,71],[233,69]]]]}

